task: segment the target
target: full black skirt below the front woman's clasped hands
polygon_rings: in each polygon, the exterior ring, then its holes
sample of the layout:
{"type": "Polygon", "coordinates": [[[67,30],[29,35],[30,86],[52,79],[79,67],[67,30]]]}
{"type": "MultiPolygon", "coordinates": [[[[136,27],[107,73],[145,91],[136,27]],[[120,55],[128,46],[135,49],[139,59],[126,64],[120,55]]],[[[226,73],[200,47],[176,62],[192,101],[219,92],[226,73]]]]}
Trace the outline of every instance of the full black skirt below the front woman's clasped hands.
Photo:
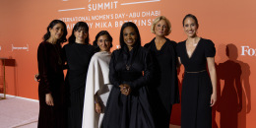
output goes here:
{"type": "Polygon", "coordinates": [[[155,128],[146,88],[124,96],[120,89],[113,87],[107,100],[102,128],[155,128]]]}

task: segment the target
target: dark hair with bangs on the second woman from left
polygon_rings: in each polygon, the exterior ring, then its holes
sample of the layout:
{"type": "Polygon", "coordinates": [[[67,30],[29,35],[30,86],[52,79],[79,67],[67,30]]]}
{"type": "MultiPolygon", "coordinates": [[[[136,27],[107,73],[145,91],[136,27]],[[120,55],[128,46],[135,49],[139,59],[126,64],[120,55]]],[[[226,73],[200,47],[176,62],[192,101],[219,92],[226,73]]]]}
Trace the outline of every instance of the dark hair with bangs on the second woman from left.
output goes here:
{"type": "Polygon", "coordinates": [[[75,43],[76,41],[76,36],[75,36],[75,33],[74,32],[77,32],[79,30],[84,30],[85,32],[87,32],[87,38],[85,40],[85,43],[86,44],[89,44],[89,27],[87,25],[87,23],[85,22],[78,22],[74,28],[73,28],[73,31],[72,31],[72,34],[70,35],[69,37],[69,43],[75,43]]]}

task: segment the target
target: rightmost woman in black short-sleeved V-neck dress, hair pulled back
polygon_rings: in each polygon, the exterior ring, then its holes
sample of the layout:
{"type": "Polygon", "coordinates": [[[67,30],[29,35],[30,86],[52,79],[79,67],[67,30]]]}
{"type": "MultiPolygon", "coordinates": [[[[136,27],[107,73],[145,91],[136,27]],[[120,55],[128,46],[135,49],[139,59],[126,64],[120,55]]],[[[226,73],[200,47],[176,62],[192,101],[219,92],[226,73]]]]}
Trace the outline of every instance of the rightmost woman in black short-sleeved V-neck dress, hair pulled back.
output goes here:
{"type": "Polygon", "coordinates": [[[212,106],[217,100],[215,45],[212,40],[197,35],[198,27],[197,18],[186,15],[183,28],[187,39],[177,44],[179,63],[185,67],[181,95],[182,128],[212,128],[212,106]]]}

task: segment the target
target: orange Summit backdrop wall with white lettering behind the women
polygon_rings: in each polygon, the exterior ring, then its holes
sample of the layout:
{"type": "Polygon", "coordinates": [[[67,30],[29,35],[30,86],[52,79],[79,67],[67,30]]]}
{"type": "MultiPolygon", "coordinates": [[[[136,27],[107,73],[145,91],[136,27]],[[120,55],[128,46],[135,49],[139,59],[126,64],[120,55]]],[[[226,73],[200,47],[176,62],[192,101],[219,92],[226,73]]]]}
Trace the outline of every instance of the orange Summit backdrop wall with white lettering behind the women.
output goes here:
{"type": "MultiPolygon", "coordinates": [[[[177,42],[186,39],[182,20],[194,14],[199,20],[198,35],[212,39],[217,48],[219,104],[214,107],[214,127],[255,127],[256,112],[256,2],[254,0],[11,0],[0,2],[0,58],[5,59],[7,94],[37,99],[36,52],[48,24],[59,19],[66,23],[68,36],[77,22],[90,27],[90,42],[99,31],[113,36],[111,50],[119,47],[123,23],[134,22],[143,45],[155,36],[151,25],[165,16],[177,42]]],[[[2,63],[3,61],[1,61],[2,63]]],[[[0,92],[3,93],[3,63],[0,92]]],[[[182,80],[183,67],[179,73],[182,80]]],[[[171,117],[179,124],[180,107],[171,117]]]]}

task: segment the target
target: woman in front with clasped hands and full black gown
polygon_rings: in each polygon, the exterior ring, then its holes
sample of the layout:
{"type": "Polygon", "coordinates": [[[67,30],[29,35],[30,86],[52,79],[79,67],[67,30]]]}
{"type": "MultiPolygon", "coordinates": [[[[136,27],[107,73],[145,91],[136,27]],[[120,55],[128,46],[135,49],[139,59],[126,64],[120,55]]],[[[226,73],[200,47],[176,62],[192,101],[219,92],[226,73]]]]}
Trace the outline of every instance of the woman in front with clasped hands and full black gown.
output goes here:
{"type": "Polygon", "coordinates": [[[134,23],[125,23],[120,32],[121,49],[113,51],[108,96],[102,128],[155,128],[147,86],[153,63],[134,23]]]}

